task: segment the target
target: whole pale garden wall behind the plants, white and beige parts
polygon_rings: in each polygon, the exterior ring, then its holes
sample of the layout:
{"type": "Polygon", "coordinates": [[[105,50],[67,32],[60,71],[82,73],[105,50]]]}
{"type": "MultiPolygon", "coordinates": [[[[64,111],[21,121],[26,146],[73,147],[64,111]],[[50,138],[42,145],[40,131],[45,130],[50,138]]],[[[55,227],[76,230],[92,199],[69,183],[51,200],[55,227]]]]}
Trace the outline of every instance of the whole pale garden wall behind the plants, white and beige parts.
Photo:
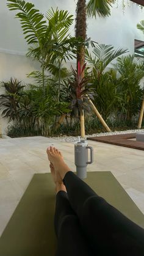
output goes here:
{"type": "MultiPolygon", "coordinates": [[[[76,1],[72,0],[28,0],[35,4],[35,8],[41,13],[53,7],[68,10],[75,15],[76,1]]],[[[125,0],[126,1],[126,0],[125,0]]],[[[38,69],[39,65],[25,57],[27,43],[24,40],[20,21],[15,19],[15,12],[9,11],[5,0],[1,0],[0,8],[0,81],[9,80],[10,77],[18,78],[24,82],[30,80],[27,73],[38,69]]],[[[137,23],[144,19],[144,9],[129,1],[129,6],[123,13],[121,0],[112,7],[112,15],[109,18],[91,18],[87,20],[87,37],[98,43],[105,43],[115,48],[127,48],[129,53],[134,53],[134,39],[144,40],[142,32],[137,29],[137,23]]],[[[71,26],[71,35],[74,35],[74,24],[71,26]]],[[[68,64],[70,65],[70,64],[68,64]]],[[[0,93],[2,89],[0,88],[0,93]]],[[[7,122],[2,119],[2,133],[7,122]]]]}

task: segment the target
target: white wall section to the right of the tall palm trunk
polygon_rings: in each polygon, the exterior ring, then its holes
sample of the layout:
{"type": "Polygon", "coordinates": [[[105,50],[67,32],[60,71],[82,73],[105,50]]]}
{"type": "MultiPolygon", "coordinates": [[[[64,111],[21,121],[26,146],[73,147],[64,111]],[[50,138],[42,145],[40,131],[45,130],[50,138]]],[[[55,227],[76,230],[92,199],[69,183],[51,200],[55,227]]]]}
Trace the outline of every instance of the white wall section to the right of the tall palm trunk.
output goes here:
{"type": "Polygon", "coordinates": [[[134,39],[144,40],[144,35],[137,29],[137,23],[144,19],[144,9],[131,2],[131,7],[126,7],[123,13],[120,3],[118,8],[116,5],[112,8],[110,17],[88,21],[88,35],[96,42],[128,48],[129,53],[134,53],[134,39]]]}

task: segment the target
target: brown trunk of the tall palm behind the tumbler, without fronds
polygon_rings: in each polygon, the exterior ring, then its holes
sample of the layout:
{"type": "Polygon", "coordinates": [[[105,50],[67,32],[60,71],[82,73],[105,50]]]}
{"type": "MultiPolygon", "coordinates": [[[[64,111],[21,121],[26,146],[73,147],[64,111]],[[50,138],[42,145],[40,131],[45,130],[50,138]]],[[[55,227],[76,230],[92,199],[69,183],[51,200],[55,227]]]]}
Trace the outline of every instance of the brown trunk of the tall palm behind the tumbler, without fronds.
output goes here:
{"type": "MultiPolygon", "coordinates": [[[[76,9],[76,37],[82,37],[86,39],[86,1],[78,0],[77,9],[76,9]]],[[[79,62],[81,67],[84,65],[85,49],[84,45],[81,48],[77,49],[77,63],[79,62]]],[[[84,73],[82,74],[82,78],[84,73]]],[[[84,123],[84,110],[80,113],[80,122],[81,122],[81,137],[85,137],[85,123],[84,123]]]]}

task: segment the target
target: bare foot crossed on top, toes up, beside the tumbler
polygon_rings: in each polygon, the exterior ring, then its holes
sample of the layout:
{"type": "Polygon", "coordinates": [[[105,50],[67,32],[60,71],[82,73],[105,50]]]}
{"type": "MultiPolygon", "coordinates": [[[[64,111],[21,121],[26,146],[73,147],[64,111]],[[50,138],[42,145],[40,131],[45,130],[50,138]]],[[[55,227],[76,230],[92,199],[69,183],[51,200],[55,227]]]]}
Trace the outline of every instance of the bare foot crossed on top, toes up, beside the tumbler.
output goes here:
{"type": "Polygon", "coordinates": [[[49,161],[53,164],[55,172],[57,172],[60,178],[63,180],[65,174],[70,171],[70,168],[63,161],[62,153],[55,147],[48,147],[46,150],[49,161]]]}

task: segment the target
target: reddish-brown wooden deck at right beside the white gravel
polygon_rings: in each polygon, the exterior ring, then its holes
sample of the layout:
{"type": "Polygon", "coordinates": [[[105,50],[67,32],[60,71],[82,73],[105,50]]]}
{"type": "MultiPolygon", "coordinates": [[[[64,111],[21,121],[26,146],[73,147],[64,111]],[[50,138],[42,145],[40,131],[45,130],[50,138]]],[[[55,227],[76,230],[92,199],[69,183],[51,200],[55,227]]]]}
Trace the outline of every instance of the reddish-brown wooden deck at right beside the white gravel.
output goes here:
{"type": "Polygon", "coordinates": [[[121,147],[135,148],[139,150],[144,150],[144,142],[141,141],[131,141],[129,139],[134,139],[136,133],[128,134],[118,134],[109,136],[99,136],[99,137],[88,137],[87,139],[91,141],[98,141],[107,144],[118,145],[121,147]]]}

